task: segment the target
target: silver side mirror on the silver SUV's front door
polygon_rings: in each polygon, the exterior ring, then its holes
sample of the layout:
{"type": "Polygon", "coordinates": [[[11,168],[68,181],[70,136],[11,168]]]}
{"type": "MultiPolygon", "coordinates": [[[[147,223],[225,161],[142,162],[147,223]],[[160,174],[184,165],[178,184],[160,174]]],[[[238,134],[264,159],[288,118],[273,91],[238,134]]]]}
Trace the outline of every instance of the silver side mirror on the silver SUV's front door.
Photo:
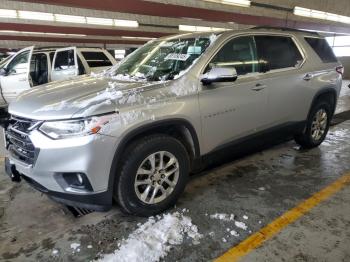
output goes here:
{"type": "Polygon", "coordinates": [[[203,75],[201,82],[204,85],[210,85],[216,82],[234,82],[237,80],[237,71],[230,67],[214,67],[208,73],[203,75]]]}

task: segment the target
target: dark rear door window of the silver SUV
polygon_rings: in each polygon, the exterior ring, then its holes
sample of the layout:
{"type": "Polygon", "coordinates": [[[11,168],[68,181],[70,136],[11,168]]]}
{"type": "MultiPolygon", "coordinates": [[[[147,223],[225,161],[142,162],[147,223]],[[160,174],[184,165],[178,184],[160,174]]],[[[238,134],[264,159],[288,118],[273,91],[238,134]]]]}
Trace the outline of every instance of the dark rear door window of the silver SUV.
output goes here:
{"type": "Polygon", "coordinates": [[[303,57],[290,37],[255,36],[262,71],[297,67],[303,57]]]}

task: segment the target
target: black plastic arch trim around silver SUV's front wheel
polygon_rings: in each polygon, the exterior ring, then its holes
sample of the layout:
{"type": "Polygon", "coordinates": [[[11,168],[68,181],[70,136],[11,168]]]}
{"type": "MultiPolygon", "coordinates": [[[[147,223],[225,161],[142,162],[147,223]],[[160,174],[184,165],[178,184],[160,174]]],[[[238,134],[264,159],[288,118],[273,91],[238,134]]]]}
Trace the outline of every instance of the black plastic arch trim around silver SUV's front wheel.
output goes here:
{"type": "Polygon", "coordinates": [[[119,143],[117,150],[114,154],[113,157],[113,163],[110,169],[110,173],[109,173],[109,179],[108,179],[108,192],[111,196],[111,199],[113,197],[113,186],[114,186],[114,179],[115,179],[115,174],[117,172],[118,169],[118,163],[120,163],[120,160],[122,158],[123,152],[125,151],[125,148],[127,146],[127,144],[133,139],[135,138],[137,135],[140,135],[142,133],[145,133],[147,131],[150,131],[152,129],[156,129],[156,128],[161,128],[161,127],[166,127],[166,126],[185,126],[191,136],[192,136],[192,140],[193,140],[193,144],[194,144],[194,153],[195,153],[195,158],[200,158],[200,147],[199,147],[199,140],[198,140],[198,136],[197,136],[197,132],[194,129],[194,127],[192,126],[192,124],[190,122],[188,122],[185,119],[181,119],[181,118],[175,118],[175,119],[167,119],[167,120],[159,120],[159,121],[154,121],[152,123],[149,123],[147,125],[135,128],[134,130],[130,131],[119,143]]]}

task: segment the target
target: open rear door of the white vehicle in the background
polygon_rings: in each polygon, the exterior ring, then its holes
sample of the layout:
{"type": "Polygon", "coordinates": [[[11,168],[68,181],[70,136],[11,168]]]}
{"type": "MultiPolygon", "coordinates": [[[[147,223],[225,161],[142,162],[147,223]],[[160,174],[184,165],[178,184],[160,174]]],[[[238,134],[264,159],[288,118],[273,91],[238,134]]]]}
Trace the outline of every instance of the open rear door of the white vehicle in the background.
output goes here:
{"type": "Polygon", "coordinates": [[[70,79],[78,74],[77,48],[57,49],[52,62],[51,81],[70,79]]]}

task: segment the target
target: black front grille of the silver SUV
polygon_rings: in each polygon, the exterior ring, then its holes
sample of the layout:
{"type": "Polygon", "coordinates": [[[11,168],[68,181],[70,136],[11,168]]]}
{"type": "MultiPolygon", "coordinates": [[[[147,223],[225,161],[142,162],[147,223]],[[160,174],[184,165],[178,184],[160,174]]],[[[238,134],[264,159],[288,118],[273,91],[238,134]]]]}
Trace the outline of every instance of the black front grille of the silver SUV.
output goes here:
{"type": "Polygon", "coordinates": [[[29,138],[29,132],[38,121],[11,116],[6,128],[6,148],[15,159],[33,165],[39,152],[29,138]]]}

